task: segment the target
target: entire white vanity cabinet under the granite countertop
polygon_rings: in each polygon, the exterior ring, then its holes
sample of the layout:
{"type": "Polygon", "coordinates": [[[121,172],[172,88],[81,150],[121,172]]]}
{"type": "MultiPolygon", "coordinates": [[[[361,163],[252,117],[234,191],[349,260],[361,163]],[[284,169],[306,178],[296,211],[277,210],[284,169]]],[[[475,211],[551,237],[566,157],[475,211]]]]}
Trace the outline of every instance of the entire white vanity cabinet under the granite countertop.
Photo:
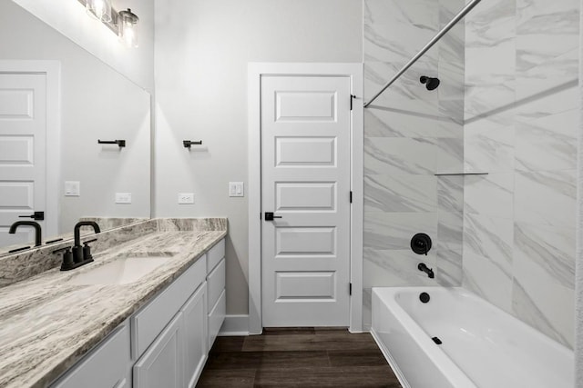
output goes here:
{"type": "Polygon", "coordinates": [[[224,254],[223,239],[53,387],[194,387],[225,317],[224,254]]]}

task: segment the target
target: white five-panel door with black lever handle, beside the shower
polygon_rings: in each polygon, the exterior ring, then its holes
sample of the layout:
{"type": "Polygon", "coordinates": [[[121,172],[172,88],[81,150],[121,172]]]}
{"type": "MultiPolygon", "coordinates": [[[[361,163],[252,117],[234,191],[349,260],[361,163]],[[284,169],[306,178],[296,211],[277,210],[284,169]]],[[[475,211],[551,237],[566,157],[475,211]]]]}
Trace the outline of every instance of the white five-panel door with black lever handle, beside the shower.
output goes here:
{"type": "Polygon", "coordinates": [[[348,76],[261,76],[265,327],[349,323],[350,99],[348,76]]]}

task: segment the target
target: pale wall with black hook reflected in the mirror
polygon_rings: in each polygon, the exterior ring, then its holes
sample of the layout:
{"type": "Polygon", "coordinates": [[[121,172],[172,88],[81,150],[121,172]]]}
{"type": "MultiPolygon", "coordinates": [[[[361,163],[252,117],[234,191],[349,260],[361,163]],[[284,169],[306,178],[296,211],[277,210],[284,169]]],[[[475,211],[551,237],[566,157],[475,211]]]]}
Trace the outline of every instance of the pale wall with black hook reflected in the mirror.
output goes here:
{"type": "Polygon", "coordinates": [[[148,217],[148,93],[12,2],[0,2],[0,59],[61,64],[60,233],[80,217],[148,217]],[[98,138],[128,146],[98,145],[98,138]],[[63,196],[64,181],[79,181],[81,196],[63,196]],[[116,192],[132,193],[132,204],[115,204],[116,192]]]}

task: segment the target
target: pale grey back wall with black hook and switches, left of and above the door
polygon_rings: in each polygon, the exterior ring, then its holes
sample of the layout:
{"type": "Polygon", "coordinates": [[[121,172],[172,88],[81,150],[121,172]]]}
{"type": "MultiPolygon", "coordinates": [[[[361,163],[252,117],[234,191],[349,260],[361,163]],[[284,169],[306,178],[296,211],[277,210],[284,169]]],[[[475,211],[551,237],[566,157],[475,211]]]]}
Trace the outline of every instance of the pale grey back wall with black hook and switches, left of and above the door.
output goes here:
{"type": "Polygon", "coordinates": [[[244,314],[247,196],[258,193],[227,188],[247,182],[247,64],[361,62],[362,1],[159,0],[155,14],[155,215],[229,217],[227,312],[244,314]],[[194,205],[177,204],[190,192],[194,205]]]}

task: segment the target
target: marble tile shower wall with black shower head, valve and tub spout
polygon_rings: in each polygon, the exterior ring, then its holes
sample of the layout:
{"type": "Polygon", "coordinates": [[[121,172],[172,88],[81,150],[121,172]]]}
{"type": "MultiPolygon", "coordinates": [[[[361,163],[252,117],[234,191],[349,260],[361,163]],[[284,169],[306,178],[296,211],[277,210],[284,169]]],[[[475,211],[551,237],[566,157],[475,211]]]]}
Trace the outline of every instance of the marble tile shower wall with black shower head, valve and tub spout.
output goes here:
{"type": "MultiPolygon", "coordinates": [[[[455,13],[464,0],[365,0],[364,95],[370,98],[455,13]]],[[[371,287],[461,285],[464,181],[464,35],[456,26],[365,110],[363,324],[371,287]],[[439,76],[428,91],[421,75],[439,76]],[[414,254],[414,234],[434,247],[414,254]],[[435,270],[429,279],[417,270],[435,270]]]]}

